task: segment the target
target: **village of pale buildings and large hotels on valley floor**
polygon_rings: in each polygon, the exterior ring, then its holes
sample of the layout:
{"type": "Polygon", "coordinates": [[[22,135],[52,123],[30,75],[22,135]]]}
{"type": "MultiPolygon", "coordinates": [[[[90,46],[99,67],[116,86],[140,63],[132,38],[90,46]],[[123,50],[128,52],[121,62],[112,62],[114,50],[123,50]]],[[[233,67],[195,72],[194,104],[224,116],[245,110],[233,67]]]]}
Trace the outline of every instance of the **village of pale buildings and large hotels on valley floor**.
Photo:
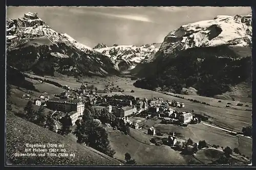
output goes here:
{"type": "MultiPolygon", "coordinates": [[[[201,122],[201,119],[195,114],[190,112],[184,112],[178,110],[178,108],[184,108],[184,103],[177,101],[164,101],[162,98],[134,98],[131,95],[105,95],[108,90],[122,91],[119,87],[113,87],[113,84],[105,85],[104,90],[98,90],[96,87],[81,84],[80,88],[71,89],[69,86],[64,85],[60,94],[54,94],[54,98],[50,99],[50,96],[44,92],[38,99],[34,100],[34,105],[46,107],[52,110],[52,118],[58,122],[65,115],[69,115],[72,120],[72,125],[78,119],[82,118],[83,111],[86,105],[92,106],[96,110],[105,110],[108,113],[113,113],[117,118],[122,119],[125,124],[131,128],[138,130],[142,129],[142,124],[138,124],[133,117],[143,117],[147,120],[157,118],[161,120],[161,124],[173,124],[176,126],[188,126],[188,124],[197,124],[201,122]],[[112,86],[110,88],[110,86],[112,86]],[[104,95],[103,95],[104,94],[104,95]]],[[[23,96],[23,98],[29,100],[29,94],[23,96]]],[[[57,131],[57,129],[56,129],[57,131]]],[[[151,136],[163,136],[161,133],[157,133],[154,127],[147,128],[147,134],[151,136]]],[[[172,133],[173,140],[176,140],[174,132],[172,133]]],[[[156,138],[152,138],[153,143],[156,142],[156,138]]],[[[162,144],[162,142],[160,142],[162,144]]],[[[175,142],[174,142],[175,144],[175,142]]]]}

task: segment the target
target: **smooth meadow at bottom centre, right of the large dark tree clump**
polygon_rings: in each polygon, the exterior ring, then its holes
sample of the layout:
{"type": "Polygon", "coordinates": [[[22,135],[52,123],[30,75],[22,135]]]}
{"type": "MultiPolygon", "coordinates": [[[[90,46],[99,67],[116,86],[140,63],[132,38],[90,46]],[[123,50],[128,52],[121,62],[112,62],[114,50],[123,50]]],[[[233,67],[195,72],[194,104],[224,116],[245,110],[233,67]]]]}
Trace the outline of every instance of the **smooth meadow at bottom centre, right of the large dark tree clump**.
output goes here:
{"type": "Polygon", "coordinates": [[[186,164],[180,152],[170,147],[145,144],[111,129],[108,132],[111,148],[116,151],[114,158],[124,160],[125,153],[129,153],[137,164],[186,164]]]}

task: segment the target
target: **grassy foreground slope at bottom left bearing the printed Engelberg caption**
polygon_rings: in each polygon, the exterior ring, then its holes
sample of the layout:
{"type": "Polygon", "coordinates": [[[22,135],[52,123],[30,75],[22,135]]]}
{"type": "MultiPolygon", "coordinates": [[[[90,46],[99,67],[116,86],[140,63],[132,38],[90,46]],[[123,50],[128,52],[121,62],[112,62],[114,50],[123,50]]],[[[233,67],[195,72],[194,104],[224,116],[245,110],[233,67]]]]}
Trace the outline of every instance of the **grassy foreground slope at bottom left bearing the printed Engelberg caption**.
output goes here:
{"type": "Polygon", "coordinates": [[[50,164],[50,165],[100,165],[121,164],[121,162],[106,156],[92,148],[82,146],[76,142],[48,131],[35,124],[8,112],[6,134],[6,155],[15,164],[50,164]],[[14,153],[25,153],[26,143],[56,143],[63,144],[67,154],[75,157],[15,157],[14,153]]]}

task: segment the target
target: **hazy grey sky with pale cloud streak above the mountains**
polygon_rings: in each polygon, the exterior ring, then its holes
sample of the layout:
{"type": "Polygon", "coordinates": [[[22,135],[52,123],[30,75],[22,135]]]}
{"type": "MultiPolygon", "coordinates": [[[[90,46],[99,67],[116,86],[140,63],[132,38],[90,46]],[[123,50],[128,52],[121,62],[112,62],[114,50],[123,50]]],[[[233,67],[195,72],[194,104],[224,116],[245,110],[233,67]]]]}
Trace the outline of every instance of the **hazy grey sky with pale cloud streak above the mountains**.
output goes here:
{"type": "Polygon", "coordinates": [[[94,47],[161,43],[187,23],[217,15],[247,15],[250,7],[7,7],[7,19],[37,12],[53,30],[94,47]]]}

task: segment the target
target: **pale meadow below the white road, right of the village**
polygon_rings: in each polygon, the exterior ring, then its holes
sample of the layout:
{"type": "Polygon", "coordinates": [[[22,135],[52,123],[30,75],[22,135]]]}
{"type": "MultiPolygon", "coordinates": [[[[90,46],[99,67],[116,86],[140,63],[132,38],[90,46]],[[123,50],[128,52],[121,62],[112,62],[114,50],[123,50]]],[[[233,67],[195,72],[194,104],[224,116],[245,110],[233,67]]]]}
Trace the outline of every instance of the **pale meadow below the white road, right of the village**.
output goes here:
{"type": "MultiPolygon", "coordinates": [[[[138,123],[139,125],[144,125],[149,128],[151,126],[155,127],[157,131],[160,131],[164,134],[169,134],[175,132],[178,140],[187,140],[191,138],[194,142],[199,142],[200,140],[205,140],[207,143],[213,145],[219,145],[221,147],[230,147],[232,149],[239,148],[242,154],[245,154],[248,157],[251,157],[252,150],[252,140],[247,137],[237,137],[229,135],[227,132],[215,129],[203,124],[188,125],[187,127],[180,127],[176,125],[164,125],[159,124],[159,119],[153,118],[151,120],[145,120],[139,117],[130,118],[132,121],[141,119],[142,121],[138,123]],[[150,125],[150,126],[148,126],[150,125]]],[[[146,133],[146,129],[142,129],[146,133]]],[[[180,140],[180,141],[182,141],[180,140]]]]}

